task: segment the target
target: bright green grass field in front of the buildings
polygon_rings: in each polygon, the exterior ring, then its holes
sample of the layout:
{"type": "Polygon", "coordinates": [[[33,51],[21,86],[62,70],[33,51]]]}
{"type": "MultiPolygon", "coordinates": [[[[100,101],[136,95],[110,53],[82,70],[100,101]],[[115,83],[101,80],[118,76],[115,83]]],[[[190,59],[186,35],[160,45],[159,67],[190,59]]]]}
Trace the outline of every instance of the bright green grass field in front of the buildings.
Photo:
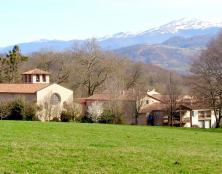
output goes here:
{"type": "Polygon", "coordinates": [[[222,173],[222,129],[0,121],[0,146],[0,173],[222,173]]]}

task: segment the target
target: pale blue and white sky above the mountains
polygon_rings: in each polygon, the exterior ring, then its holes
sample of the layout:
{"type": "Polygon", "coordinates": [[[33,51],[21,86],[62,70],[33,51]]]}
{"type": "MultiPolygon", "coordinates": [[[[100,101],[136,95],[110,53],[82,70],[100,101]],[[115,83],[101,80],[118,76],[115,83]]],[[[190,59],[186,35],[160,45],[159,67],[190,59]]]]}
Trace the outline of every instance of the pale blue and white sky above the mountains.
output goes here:
{"type": "Polygon", "coordinates": [[[222,22],[221,0],[0,0],[0,47],[138,32],[193,17],[222,22]]]}

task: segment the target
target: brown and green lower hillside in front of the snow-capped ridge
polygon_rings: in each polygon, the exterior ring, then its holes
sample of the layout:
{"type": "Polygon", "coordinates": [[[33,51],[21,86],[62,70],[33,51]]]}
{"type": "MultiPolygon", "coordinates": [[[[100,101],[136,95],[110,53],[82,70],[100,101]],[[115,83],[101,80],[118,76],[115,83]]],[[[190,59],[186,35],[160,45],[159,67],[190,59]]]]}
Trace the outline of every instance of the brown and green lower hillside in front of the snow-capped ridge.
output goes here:
{"type": "Polygon", "coordinates": [[[187,68],[189,59],[198,55],[201,49],[178,48],[165,45],[138,44],[115,49],[120,54],[129,55],[133,61],[153,63],[167,69],[174,69],[181,73],[187,68]]]}

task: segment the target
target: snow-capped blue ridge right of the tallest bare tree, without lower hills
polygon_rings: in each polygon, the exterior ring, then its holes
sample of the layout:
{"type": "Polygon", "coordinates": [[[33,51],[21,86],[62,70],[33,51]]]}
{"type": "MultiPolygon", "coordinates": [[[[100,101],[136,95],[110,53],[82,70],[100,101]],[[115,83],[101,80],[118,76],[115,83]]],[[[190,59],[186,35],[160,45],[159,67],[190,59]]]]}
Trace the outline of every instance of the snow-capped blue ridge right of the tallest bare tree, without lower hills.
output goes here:
{"type": "Polygon", "coordinates": [[[195,18],[183,18],[143,32],[121,32],[107,35],[99,38],[99,41],[104,48],[115,49],[133,44],[160,44],[175,36],[192,37],[215,34],[221,29],[222,23],[214,24],[195,18]]]}

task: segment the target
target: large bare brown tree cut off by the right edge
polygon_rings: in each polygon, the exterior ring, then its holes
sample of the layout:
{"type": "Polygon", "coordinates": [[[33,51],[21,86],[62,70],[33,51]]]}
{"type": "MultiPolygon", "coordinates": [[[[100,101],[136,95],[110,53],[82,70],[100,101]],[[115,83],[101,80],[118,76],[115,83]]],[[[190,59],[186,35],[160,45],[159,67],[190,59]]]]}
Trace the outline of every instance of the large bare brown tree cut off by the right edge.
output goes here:
{"type": "Polygon", "coordinates": [[[214,110],[219,127],[222,118],[222,32],[191,61],[193,90],[214,110]]]}

